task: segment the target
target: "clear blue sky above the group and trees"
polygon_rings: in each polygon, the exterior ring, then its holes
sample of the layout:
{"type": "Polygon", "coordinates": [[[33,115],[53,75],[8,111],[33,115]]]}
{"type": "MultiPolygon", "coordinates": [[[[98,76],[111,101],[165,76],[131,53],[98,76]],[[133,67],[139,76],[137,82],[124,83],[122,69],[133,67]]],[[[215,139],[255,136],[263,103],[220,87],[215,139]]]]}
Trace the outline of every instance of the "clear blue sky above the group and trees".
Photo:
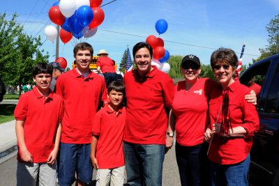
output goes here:
{"type": "MultiPolygon", "coordinates": [[[[1,3],[0,13],[6,20],[17,13],[17,22],[24,33],[41,36],[40,49],[55,61],[55,41],[47,40],[44,30],[50,21],[48,11],[57,0],[25,0],[1,3]]],[[[77,0],[78,1],[78,0],[77,0]]],[[[130,51],[147,36],[159,37],[155,24],[163,19],[167,31],[160,34],[170,55],[195,54],[203,64],[210,63],[212,52],[219,47],[233,49],[239,56],[243,43],[246,49],[243,64],[252,63],[260,55],[259,48],[268,45],[266,25],[279,13],[278,0],[103,0],[105,20],[91,38],[59,42],[59,56],[73,63],[73,47],[89,42],[94,55],[105,49],[110,58],[121,63],[127,45],[130,51]],[[110,3],[111,2],[111,3],[110,3]],[[107,4],[108,3],[108,4],[107,4]],[[107,5],[105,5],[107,4],[107,5]]],[[[132,53],[131,53],[132,56],[132,53]]],[[[133,57],[133,56],[132,56],[133,57]]]]}

